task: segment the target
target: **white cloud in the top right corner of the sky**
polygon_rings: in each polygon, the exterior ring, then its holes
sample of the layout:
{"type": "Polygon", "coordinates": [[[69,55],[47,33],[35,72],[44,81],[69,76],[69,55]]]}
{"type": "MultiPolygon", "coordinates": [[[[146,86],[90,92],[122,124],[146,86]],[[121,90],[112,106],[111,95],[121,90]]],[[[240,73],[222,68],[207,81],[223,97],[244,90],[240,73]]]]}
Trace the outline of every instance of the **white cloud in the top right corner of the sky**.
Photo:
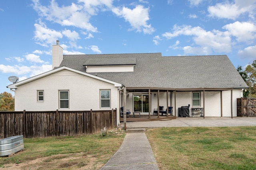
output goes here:
{"type": "Polygon", "coordinates": [[[256,0],[234,0],[233,2],[225,1],[217,3],[215,6],[209,6],[208,12],[210,17],[227,18],[235,20],[242,14],[248,14],[254,18],[256,9],[256,0]]]}

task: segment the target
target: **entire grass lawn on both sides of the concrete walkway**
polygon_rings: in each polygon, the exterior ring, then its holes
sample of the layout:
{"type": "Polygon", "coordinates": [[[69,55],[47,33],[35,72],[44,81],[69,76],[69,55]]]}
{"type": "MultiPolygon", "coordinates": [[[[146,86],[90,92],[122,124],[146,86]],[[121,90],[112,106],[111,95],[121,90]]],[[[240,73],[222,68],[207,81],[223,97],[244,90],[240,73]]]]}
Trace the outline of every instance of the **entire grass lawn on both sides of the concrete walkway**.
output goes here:
{"type": "MultiPolygon", "coordinates": [[[[146,135],[160,170],[256,169],[256,127],[165,127],[147,129],[146,135]]],[[[24,139],[24,151],[0,157],[0,170],[97,170],[119,149],[124,136],[120,130],[105,137],[24,139]]]]}

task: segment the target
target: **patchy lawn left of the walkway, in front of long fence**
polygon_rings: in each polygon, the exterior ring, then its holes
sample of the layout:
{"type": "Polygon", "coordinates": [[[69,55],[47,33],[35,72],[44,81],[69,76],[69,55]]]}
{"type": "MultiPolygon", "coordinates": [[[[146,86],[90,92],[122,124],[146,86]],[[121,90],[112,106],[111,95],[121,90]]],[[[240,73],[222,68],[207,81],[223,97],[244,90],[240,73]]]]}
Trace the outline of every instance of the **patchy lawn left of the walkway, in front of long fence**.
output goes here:
{"type": "Polygon", "coordinates": [[[124,136],[125,133],[108,133],[104,137],[97,134],[24,139],[24,151],[12,157],[0,157],[0,170],[7,164],[21,164],[40,158],[43,159],[42,165],[36,164],[39,169],[65,169],[65,167],[76,169],[87,164],[92,164],[88,169],[97,169],[98,165],[105,164],[120,148],[124,136]],[[70,157],[73,158],[69,159],[70,157]],[[55,165],[47,166],[47,164],[56,164],[56,162],[58,166],[55,168],[53,168],[55,165]]]}

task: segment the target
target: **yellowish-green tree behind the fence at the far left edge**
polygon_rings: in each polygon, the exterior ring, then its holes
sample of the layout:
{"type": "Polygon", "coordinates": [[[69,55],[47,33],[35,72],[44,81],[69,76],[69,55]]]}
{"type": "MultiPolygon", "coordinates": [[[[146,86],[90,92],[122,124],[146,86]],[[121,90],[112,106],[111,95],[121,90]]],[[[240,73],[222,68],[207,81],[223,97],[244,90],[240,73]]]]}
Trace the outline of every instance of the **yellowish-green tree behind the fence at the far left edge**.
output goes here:
{"type": "Polygon", "coordinates": [[[0,111],[14,111],[14,98],[12,94],[8,92],[0,94],[0,111]]]}

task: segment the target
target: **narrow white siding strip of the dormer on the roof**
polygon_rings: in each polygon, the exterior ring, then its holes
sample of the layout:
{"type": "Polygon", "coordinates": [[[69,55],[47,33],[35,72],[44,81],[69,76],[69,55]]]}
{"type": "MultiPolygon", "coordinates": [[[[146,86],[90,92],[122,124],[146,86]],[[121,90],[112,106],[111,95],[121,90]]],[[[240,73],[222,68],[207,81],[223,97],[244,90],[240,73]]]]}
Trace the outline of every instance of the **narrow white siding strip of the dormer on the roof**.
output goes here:
{"type": "Polygon", "coordinates": [[[86,72],[133,72],[134,66],[87,66],[86,72]]]}

